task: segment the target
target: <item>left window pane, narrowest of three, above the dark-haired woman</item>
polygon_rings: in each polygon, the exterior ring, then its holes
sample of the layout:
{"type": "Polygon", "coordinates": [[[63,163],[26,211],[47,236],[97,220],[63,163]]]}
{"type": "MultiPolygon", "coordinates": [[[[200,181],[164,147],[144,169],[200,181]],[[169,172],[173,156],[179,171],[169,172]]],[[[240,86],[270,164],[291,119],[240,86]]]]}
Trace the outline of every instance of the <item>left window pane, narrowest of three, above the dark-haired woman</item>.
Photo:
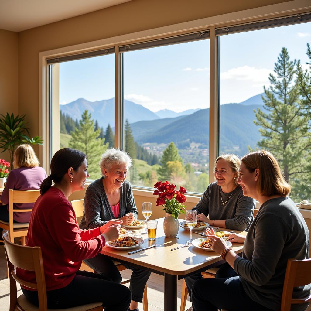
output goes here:
{"type": "Polygon", "coordinates": [[[86,153],[90,179],[100,177],[101,154],[114,147],[114,54],[50,65],[52,149],[71,147],[86,153]],[[59,103],[59,104],[58,104],[59,103]],[[58,117],[57,117],[58,115],[58,117]]]}

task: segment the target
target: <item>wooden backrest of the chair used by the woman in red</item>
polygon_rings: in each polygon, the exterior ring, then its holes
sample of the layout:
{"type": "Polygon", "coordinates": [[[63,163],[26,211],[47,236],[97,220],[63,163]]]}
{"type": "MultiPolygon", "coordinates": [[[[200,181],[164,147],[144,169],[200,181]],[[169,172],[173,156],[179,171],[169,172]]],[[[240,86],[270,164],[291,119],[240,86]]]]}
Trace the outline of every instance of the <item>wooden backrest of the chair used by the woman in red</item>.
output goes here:
{"type": "Polygon", "coordinates": [[[38,290],[39,310],[47,311],[46,286],[42,260],[41,247],[21,246],[10,241],[7,230],[3,231],[3,243],[10,278],[10,311],[13,311],[17,303],[16,281],[23,286],[38,290]],[[34,271],[36,283],[30,283],[16,276],[14,266],[34,271]]]}

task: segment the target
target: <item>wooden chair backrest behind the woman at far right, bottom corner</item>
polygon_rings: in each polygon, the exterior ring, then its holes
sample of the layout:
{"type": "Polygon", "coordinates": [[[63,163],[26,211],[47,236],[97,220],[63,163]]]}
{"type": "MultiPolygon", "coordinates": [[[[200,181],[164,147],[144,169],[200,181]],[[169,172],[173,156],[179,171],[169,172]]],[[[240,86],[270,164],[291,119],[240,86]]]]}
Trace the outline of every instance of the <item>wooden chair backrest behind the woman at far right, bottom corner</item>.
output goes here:
{"type": "Polygon", "coordinates": [[[304,286],[310,283],[311,259],[288,259],[283,286],[281,311],[290,311],[291,304],[303,304],[311,301],[311,295],[302,299],[292,298],[294,287],[304,286]]]}

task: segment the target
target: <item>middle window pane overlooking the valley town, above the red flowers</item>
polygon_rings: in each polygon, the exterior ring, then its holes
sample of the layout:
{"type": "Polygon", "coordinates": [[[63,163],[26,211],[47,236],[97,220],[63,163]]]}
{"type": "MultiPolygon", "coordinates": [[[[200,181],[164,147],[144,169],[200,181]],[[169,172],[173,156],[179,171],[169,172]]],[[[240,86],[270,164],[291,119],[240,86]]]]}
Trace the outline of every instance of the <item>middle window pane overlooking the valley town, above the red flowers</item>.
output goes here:
{"type": "MultiPolygon", "coordinates": [[[[195,34],[196,37],[197,34],[195,34]]],[[[135,46],[134,46],[135,48],[135,46]]],[[[123,53],[124,146],[132,185],[207,188],[209,40],[123,53]]]]}

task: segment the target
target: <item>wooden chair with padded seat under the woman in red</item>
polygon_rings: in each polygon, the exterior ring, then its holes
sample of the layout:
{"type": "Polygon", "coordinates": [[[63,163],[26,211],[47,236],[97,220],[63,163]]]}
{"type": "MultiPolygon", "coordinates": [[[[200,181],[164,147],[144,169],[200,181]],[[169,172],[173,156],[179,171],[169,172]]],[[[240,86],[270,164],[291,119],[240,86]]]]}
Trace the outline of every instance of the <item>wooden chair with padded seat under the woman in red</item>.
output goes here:
{"type": "MultiPolygon", "coordinates": [[[[29,247],[14,244],[10,241],[8,231],[3,232],[3,243],[9,266],[10,278],[10,311],[48,311],[44,267],[41,248],[39,246],[29,247]],[[36,283],[30,283],[16,276],[14,266],[34,271],[36,283]],[[24,295],[17,297],[16,281],[23,286],[38,290],[39,308],[31,304],[24,295]]],[[[68,309],[58,309],[58,311],[103,311],[101,302],[85,304],[68,309]]]]}

